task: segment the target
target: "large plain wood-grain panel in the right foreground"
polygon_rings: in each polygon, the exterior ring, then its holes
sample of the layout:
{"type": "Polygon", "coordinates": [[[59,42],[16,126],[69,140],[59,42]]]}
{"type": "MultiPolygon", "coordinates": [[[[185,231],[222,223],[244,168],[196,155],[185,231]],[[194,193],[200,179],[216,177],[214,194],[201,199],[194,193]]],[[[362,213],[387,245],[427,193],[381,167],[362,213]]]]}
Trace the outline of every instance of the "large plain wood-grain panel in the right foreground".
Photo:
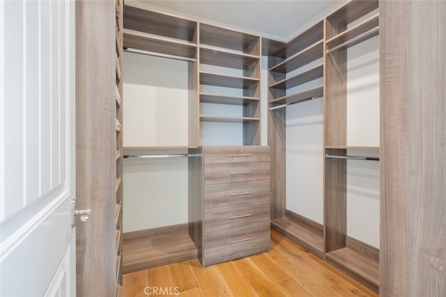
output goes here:
{"type": "Polygon", "coordinates": [[[445,15],[380,1],[382,296],[446,296],[445,15]]]}

